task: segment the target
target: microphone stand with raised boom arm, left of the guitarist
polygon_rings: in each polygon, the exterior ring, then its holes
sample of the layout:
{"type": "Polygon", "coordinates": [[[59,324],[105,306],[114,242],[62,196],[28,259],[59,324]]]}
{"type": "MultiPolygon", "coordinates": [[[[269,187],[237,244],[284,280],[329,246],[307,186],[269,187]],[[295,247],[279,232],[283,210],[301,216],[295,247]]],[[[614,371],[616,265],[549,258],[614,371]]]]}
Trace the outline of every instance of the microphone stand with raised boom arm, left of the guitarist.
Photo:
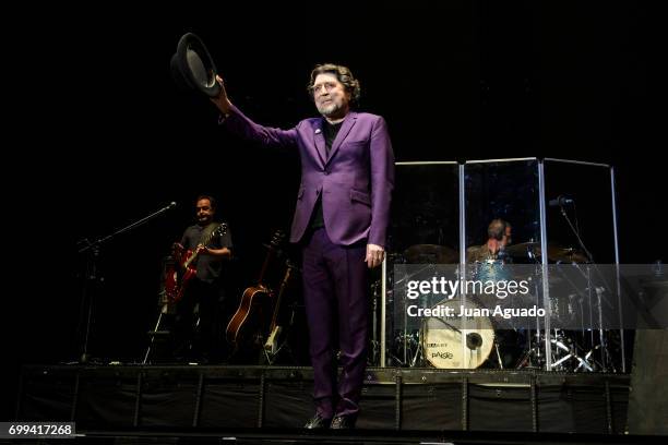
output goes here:
{"type": "Polygon", "coordinates": [[[96,287],[97,285],[102,285],[102,282],[104,282],[104,277],[99,275],[99,256],[100,256],[100,248],[104,243],[110,241],[111,239],[116,238],[117,236],[128,232],[132,229],[135,229],[146,222],[148,222],[150,220],[156,218],[157,216],[164,214],[165,212],[169,211],[170,208],[176,207],[176,203],[172,202],[169,205],[167,205],[166,207],[160,208],[157,212],[152,213],[148,216],[143,217],[142,219],[139,219],[121,229],[118,229],[105,237],[98,238],[95,241],[90,241],[87,238],[84,238],[82,240],[80,240],[76,244],[77,245],[83,245],[82,248],[80,248],[77,250],[77,253],[80,254],[87,254],[86,255],[86,261],[85,261],[85,281],[83,284],[83,291],[82,291],[82,302],[81,302],[81,314],[80,314],[80,332],[84,330],[84,338],[83,338],[83,345],[82,345],[82,352],[81,356],[79,358],[79,362],[80,363],[87,363],[91,360],[91,356],[88,353],[88,346],[90,346],[90,337],[91,337],[91,326],[92,326],[92,316],[93,316],[93,301],[94,301],[94,294],[95,291],[97,290],[96,287]],[[85,317],[85,322],[83,321],[83,313],[84,313],[84,308],[87,305],[87,314],[85,317]],[[82,324],[84,325],[83,328],[81,328],[82,324]]]}

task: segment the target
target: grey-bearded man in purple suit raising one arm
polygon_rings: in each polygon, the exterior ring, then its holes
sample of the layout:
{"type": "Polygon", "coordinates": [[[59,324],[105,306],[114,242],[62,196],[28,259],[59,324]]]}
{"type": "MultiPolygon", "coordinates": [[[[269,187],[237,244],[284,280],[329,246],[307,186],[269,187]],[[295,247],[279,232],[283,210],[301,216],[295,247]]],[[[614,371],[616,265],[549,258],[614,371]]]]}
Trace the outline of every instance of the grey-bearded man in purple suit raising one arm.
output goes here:
{"type": "MultiPolygon", "coordinates": [[[[218,82],[223,85],[220,77],[218,82]]],[[[355,425],[367,361],[367,269],[384,257],[394,155],[384,119],[350,110],[359,92],[348,68],[315,67],[309,94],[321,117],[290,130],[251,121],[229,101],[224,87],[212,99],[234,133],[262,145],[294,146],[301,156],[290,241],[302,245],[314,375],[315,416],[307,429],[355,425]],[[343,369],[338,385],[336,349],[343,369]]]]}

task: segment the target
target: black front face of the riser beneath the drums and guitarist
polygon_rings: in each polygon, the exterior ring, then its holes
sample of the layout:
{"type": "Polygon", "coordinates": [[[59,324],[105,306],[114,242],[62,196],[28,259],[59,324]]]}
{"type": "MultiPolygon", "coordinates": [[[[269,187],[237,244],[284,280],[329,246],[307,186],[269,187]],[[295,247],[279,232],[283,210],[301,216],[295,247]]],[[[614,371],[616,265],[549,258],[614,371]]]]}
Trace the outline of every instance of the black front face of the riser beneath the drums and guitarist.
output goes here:
{"type": "MultiPolygon", "coordinates": [[[[29,365],[16,420],[81,432],[299,429],[312,385],[310,368],[29,365]]],[[[622,374],[370,368],[357,426],[619,435],[629,385],[622,374]]]]}

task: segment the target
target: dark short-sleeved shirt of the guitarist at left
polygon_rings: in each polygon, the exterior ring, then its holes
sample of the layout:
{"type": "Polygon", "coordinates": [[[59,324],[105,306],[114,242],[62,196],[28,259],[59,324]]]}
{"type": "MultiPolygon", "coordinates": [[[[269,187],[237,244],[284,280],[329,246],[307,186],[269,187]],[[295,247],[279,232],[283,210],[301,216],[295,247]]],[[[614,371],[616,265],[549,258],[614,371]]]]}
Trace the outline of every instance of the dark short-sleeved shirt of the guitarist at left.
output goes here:
{"type": "MultiPolygon", "coordinates": [[[[183,238],[181,238],[183,249],[194,250],[201,240],[206,238],[219,225],[220,222],[212,222],[203,227],[199,224],[190,226],[183,232],[183,238]]],[[[206,246],[212,249],[231,249],[232,243],[229,228],[225,230],[223,234],[214,237],[206,246]]],[[[204,282],[214,282],[223,273],[224,263],[224,261],[212,255],[198,255],[194,262],[194,267],[198,270],[198,278],[204,282]]]]}

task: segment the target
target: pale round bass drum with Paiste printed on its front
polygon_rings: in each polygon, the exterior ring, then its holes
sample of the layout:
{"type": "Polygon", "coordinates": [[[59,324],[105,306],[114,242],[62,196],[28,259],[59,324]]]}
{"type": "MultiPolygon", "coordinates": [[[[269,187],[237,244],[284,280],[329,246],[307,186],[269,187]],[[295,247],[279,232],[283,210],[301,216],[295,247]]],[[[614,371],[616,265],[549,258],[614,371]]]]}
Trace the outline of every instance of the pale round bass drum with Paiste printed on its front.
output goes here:
{"type": "Polygon", "coordinates": [[[486,316],[458,316],[461,306],[466,311],[481,309],[467,299],[444,300],[437,308],[451,308],[452,317],[429,317],[422,324],[422,347],[425,359],[434,368],[475,369],[489,357],[494,345],[494,329],[486,316]]]}

